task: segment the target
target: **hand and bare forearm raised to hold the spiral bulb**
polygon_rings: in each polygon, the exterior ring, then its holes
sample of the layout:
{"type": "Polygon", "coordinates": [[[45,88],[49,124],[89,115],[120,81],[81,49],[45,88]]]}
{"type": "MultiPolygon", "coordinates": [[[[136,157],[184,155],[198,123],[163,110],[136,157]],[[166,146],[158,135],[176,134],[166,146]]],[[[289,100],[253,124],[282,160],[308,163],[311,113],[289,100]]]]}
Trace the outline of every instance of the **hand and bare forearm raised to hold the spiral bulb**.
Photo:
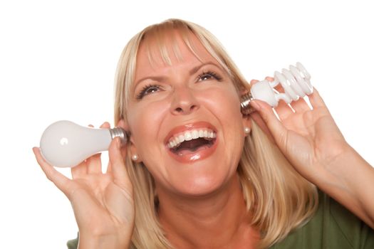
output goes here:
{"type": "Polygon", "coordinates": [[[260,100],[251,107],[301,176],[374,228],[374,168],[346,142],[316,88],[308,99],[311,107],[303,98],[291,102],[292,108],[280,101],[274,108],[279,118],[260,100]]]}

